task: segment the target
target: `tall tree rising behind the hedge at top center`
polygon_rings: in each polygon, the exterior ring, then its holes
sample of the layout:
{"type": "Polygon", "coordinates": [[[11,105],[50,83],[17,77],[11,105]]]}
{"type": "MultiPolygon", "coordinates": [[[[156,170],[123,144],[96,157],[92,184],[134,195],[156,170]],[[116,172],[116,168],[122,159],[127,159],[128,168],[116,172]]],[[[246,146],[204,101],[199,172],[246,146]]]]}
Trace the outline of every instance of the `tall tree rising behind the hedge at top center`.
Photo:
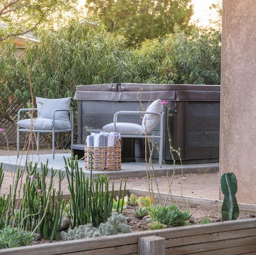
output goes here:
{"type": "Polygon", "coordinates": [[[141,43],[189,29],[191,0],[86,0],[89,14],[99,17],[111,32],[128,44],[141,43]]]}

